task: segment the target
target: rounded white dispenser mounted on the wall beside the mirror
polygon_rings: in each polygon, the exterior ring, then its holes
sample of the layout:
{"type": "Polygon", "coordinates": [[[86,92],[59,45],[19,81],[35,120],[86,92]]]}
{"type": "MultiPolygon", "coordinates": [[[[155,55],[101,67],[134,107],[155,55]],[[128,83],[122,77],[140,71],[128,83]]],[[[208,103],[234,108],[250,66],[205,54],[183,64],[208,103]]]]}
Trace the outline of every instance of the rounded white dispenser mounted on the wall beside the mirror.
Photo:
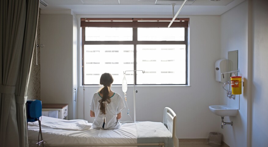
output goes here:
{"type": "Polygon", "coordinates": [[[219,59],[215,62],[216,81],[220,83],[224,83],[228,80],[227,74],[221,74],[228,71],[227,62],[227,59],[219,59]]]}

